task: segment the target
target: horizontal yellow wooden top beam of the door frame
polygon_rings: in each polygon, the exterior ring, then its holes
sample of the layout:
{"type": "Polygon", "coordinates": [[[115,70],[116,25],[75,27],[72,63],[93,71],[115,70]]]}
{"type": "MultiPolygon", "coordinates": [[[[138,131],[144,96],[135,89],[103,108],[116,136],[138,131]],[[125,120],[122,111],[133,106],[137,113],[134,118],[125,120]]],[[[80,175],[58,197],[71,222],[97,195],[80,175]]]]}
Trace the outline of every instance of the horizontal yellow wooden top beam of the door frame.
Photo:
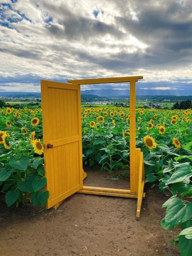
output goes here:
{"type": "Polygon", "coordinates": [[[143,76],[124,76],[124,77],[109,77],[109,78],[93,78],[93,79],[77,79],[68,80],[68,83],[78,84],[78,85],[93,85],[93,84],[106,84],[106,83],[123,83],[138,81],[138,79],[143,79],[143,76]]]}

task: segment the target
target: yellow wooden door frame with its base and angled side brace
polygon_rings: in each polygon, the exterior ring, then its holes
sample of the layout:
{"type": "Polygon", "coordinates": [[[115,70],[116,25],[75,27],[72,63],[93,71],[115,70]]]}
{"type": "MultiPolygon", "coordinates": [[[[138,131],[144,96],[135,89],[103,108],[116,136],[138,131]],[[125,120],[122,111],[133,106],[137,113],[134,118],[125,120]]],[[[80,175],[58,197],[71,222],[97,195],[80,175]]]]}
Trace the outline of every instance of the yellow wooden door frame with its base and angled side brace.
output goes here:
{"type": "MultiPolygon", "coordinates": [[[[79,87],[105,83],[130,83],[130,189],[83,186],[78,193],[137,198],[137,220],[140,219],[142,199],[145,198],[143,152],[140,148],[136,148],[136,82],[138,79],[143,79],[143,76],[68,80],[68,83],[79,85],[79,87]]],[[[84,171],[83,177],[86,177],[84,171]]]]}

